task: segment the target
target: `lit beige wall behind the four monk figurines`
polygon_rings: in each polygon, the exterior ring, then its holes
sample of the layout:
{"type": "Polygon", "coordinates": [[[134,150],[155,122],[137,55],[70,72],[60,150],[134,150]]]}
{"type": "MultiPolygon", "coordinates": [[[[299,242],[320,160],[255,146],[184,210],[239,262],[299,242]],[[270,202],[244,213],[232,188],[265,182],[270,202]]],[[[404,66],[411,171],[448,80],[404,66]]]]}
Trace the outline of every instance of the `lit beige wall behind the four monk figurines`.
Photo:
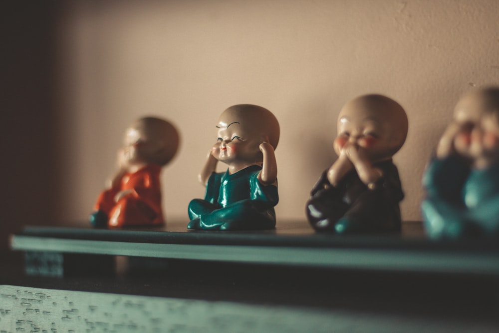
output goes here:
{"type": "Polygon", "coordinates": [[[163,171],[164,208],[187,222],[217,117],[239,103],[279,119],[278,219],[304,220],[311,186],[335,159],[340,107],[372,92],[408,113],[395,162],[403,219],[418,220],[421,175],[457,98],[499,84],[498,13],[496,0],[75,2],[59,39],[57,220],[86,221],[124,128],[156,114],[181,131],[163,171]]]}

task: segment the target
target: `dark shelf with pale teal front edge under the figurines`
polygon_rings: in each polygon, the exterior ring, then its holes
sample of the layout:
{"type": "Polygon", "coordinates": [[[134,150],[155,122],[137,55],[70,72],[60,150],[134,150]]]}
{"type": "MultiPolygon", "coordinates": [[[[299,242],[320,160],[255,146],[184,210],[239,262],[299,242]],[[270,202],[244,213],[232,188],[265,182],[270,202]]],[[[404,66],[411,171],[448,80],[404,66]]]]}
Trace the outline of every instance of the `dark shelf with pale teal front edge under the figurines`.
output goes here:
{"type": "Polygon", "coordinates": [[[303,221],[281,223],[277,229],[263,232],[188,232],[184,228],[185,224],[180,223],[147,230],[27,227],[12,237],[12,249],[293,267],[499,275],[499,246],[494,240],[433,242],[417,232],[402,236],[325,235],[313,232],[303,221]]]}

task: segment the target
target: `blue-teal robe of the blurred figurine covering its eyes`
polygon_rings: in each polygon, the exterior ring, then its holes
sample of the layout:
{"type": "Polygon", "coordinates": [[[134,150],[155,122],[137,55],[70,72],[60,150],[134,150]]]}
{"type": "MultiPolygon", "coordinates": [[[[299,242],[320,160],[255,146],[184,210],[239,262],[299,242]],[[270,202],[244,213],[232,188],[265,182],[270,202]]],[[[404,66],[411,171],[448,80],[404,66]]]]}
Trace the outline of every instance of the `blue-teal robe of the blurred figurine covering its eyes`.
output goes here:
{"type": "Polygon", "coordinates": [[[430,238],[499,236],[499,163],[481,170],[456,156],[435,159],[423,185],[421,209],[430,238]]]}

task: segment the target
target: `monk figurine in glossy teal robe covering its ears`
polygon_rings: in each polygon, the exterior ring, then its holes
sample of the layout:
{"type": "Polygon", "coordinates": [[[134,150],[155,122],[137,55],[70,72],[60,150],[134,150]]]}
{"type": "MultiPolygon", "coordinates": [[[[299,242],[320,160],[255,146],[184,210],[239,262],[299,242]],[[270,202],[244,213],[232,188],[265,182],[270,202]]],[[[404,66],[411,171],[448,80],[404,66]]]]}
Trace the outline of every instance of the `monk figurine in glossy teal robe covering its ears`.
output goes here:
{"type": "Polygon", "coordinates": [[[225,110],[216,126],[218,139],[199,175],[205,199],[189,203],[187,228],[265,230],[275,227],[278,202],[274,149],[279,123],[267,109],[250,104],[225,110]],[[228,165],[216,173],[218,161],[228,165]]]}

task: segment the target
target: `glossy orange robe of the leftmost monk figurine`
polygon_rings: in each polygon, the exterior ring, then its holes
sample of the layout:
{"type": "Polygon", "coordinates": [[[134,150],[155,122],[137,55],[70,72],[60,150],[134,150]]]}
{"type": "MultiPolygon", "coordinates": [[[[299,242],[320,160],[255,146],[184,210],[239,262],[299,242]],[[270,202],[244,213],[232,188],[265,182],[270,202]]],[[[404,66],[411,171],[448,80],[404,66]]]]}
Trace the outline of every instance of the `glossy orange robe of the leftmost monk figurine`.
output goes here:
{"type": "Polygon", "coordinates": [[[161,209],[161,167],[150,164],[121,178],[119,187],[102,192],[95,204],[95,210],[104,211],[109,217],[109,227],[156,226],[164,224],[161,209]],[[118,202],[118,192],[132,190],[118,202]]]}

